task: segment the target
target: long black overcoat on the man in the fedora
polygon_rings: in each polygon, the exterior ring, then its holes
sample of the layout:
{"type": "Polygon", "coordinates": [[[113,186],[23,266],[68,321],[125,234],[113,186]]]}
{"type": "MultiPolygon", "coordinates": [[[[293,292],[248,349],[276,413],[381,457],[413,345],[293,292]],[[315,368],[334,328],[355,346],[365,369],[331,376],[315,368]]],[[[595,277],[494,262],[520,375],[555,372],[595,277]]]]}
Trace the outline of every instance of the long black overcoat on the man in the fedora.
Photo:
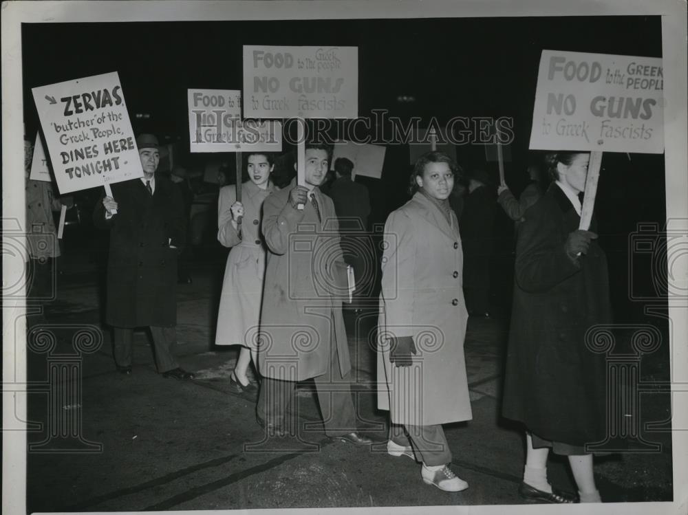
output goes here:
{"type": "Polygon", "coordinates": [[[177,256],[186,243],[179,188],[158,175],[152,197],[141,179],[111,188],[117,214],[106,219],[102,202],[94,211],[96,226],[110,229],[105,320],[114,327],[171,327],[177,323],[177,256]]]}

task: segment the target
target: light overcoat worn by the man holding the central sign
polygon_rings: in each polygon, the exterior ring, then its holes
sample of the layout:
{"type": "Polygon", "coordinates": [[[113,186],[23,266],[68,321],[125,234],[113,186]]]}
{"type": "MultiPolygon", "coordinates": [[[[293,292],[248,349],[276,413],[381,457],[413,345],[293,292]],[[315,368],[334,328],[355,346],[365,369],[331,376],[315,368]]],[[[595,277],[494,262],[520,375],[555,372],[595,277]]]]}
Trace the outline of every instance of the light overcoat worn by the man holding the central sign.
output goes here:
{"type": "Polygon", "coordinates": [[[295,185],[296,179],[263,202],[261,228],[268,252],[259,371],[273,379],[301,381],[326,373],[337,353],[338,371],[332,372],[343,376],[351,369],[342,316],[348,291],[334,204],[313,190],[319,221],[310,201],[303,210],[292,207],[289,193],[295,185]]]}

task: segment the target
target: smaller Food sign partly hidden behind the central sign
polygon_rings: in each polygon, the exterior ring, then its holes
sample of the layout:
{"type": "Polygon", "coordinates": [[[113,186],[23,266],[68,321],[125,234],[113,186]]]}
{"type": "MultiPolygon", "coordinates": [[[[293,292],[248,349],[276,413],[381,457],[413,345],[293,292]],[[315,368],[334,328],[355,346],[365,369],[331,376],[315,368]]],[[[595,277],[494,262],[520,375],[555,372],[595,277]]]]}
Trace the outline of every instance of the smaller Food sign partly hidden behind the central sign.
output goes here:
{"type": "Polygon", "coordinates": [[[191,152],[279,152],[281,122],[241,120],[241,91],[189,89],[191,152]]]}

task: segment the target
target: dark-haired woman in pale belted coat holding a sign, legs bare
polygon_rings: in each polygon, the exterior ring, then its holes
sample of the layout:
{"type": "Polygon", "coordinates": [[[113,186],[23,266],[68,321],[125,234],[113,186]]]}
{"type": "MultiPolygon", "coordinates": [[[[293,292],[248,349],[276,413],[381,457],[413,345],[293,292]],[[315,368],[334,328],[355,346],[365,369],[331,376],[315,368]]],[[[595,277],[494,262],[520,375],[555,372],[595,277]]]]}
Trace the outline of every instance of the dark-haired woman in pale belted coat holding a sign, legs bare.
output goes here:
{"type": "Polygon", "coordinates": [[[217,239],[231,247],[222,284],[222,297],[217,316],[216,345],[241,345],[237,364],[230,375],[230,385],[237,393],[250,397],[258,388],[248,380],[248,366],[256,363],[255,342],[246,334],[257,327],[263,296],[265,247],[261,240],[261,206],[275,190],[270,173],[275,168],[272,155],[248,154],[247,171],[250,181],[241,184],[242,201],[237,201],[233,184],[219,192],[217,206],[217,239]]]}

